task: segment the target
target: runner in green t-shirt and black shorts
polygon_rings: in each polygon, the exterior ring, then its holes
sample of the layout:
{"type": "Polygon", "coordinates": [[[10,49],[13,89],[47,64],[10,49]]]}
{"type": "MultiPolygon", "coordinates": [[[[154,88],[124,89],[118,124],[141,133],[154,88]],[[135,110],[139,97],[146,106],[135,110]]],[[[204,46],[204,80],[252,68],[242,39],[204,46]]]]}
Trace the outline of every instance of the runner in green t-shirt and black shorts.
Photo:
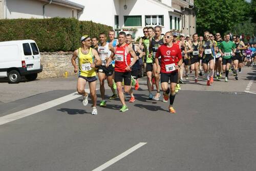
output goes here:
{"type": "Polygon", "coordinates": [[[225,36],[225,41],[221,42],[221,48],[220,52],[223,57],[222,59],[222,69],[225,71],[225,82],[228,81],[228,72],[229,72],[229,67],[231,65],[232,59],[231,56],[235,55],[234,50],[236,50],[236,45],[234,45],[233,41],[230,41],[230,35],[226,34],[225,36]]]}

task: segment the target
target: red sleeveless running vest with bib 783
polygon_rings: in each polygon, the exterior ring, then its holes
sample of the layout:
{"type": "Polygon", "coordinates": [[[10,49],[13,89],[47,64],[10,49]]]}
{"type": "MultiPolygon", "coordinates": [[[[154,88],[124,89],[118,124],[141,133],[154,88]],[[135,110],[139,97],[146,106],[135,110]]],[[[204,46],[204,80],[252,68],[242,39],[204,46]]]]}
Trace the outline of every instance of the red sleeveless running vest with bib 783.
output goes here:
{"type": "Polygon", "coordinates": [[[116,46],[115,49],[115,71],[117,72],[129,72],[125,68],[131,64],[131,55],[126,52],[126,49],[129,45],[125,44],[124,46],[116,46]]]}

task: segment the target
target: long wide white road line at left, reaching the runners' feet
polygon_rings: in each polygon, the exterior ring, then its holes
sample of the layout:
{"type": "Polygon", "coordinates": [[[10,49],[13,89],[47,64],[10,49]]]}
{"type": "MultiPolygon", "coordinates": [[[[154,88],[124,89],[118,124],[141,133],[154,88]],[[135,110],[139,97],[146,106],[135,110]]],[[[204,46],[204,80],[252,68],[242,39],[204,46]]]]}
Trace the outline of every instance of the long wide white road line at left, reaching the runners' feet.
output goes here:
{"type": "MultiPolygon", "coordinates": [[[[98,90],[98,89],[96,89],[96,90],[98,90]]],[[[90,91],[89,89],[86,89],[86,92],[89,92],[89,91],[90,91]]],[[[66,96],[33,106],[31,108],[28,108],[28,109],[25,109],[25,110],[22,110],[19,112],[15,112],[15,113],[12,113],[9,115],[2,116],[2,117],[0,117],[0,125],[20,119],[20,118],[24,118],[29,115],[33,115],[33,114],[41,112],[41,111],[45,111],[47,109],[53,108],[56,105],[68,102],[68,101],[76,99],[78,97],[81,97],[81,95],[78,94],[77,92],[74,92],[69,95],[66,95],[66,96]]]]}

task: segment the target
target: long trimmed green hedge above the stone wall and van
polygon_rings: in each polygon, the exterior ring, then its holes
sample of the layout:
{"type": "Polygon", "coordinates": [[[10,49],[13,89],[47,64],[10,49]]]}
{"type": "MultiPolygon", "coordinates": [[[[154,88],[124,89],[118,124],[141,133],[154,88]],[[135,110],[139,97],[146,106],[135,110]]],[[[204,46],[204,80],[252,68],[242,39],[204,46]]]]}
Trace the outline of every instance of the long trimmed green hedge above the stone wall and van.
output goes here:
{"type": "Polygon", "coordinates": [[[111,29],[74,18],[0,19],[0,41],[33,39],[41,52],[74,51],[82,35],[98,36],[111,29]]]}

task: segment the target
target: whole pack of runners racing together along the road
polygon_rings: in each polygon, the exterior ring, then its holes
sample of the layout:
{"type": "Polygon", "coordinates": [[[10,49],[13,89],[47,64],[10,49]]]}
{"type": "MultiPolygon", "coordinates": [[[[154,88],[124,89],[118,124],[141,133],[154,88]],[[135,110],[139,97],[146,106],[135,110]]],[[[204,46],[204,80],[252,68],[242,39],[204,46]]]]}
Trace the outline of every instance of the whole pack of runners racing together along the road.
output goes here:
{"type": "MultiPolygon", "coordinates": [[[[129,102],[134,102],[132,86],[138,90],[138,71],[144,65],[147,76],[148,99],[160,99],[160,86],[163,91],[163,102],[169,99],[168,110],[176,113],[173,103],[181,90],[183,83],[183,70],[185,69],[185,79],[188,74],[195,71],[195,82],[198,82],[198,75],[203,75],[204,71],[207,86],[216,79],[220,80],[221,73],[225,73],[225,81],[228,81],[230,66],[233,66],[233,74],[238,80],[238,73],[241,72],[244,57],[248,62],[253,61],[254,51],[244,45],[244,42],[237,36],[226,34],[222,40],[220,33],[214,37],[208,31],[204,36],[193,35],[193,40],[189,35],[176,32],[166,32],[162,34],[161,26],[145,27],[144,36],[140,38],[139,45],[132,43],[132,35],[125,32],[118,33],[115,39],[115,31],[107,35],[100,33],[98,37],[84,35],[81,37],[81,47],[74,51],[72,65],[74,72],[78,72],[77,92],[83,96],[83,105],[88,104],[89,94],[84,90],[86,83],[89,83],[90,95],[92,99],[92,114],[97,114],[96,109],[96,80],[100,82],[101,102],[100,106],[106,106],[104,80],[112,90],[110,99],[117,98],[122,103],[121,112],[129,110],[124,100],[124,93],[130,94],[129,102]],[[99,41],[99,44],[98,44],[99,41]],[[250,58],[247,57],[250,50],[250,58]],[[78,58],[78,66],[76,63],[78,58]],[[170,81],[170,84],[169,84],[170,81]],[[156,95],[152,90],[156,86],[156,95]]],[[[256,45],[255,45],[256,46],[256,45]]],[[[250,64],[250,63],[249,63],[250,64]]]]}

